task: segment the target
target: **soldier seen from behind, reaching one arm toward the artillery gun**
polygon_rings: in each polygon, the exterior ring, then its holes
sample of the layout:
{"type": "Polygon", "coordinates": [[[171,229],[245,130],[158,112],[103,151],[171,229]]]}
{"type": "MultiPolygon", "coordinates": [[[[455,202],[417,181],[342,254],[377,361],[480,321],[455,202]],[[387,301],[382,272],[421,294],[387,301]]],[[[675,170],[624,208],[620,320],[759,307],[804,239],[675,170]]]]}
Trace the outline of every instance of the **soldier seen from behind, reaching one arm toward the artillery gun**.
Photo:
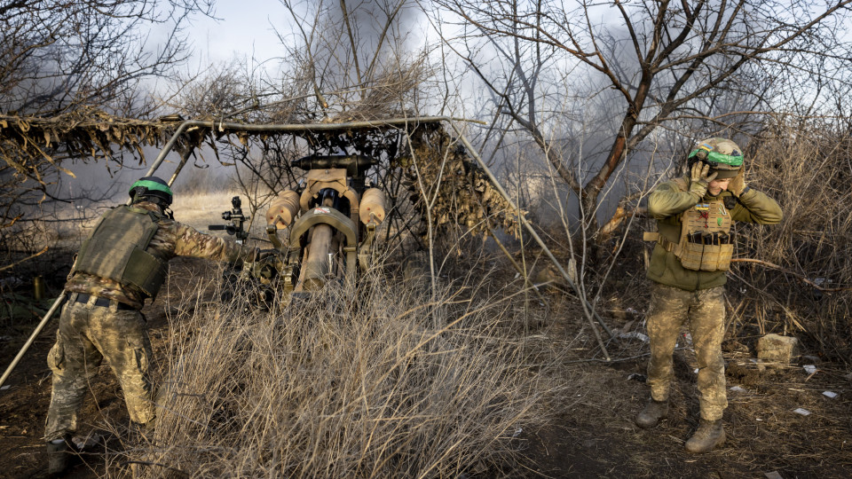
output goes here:
{"type": "Polygon", "coordinates": [[[110,209],[100,217],[68,274],[68,302],[47,357],[53,371],[44,432],[49,474],[67,468],[77,413],[104,357],[122,386],[130,420],[141,429],[153,427],[151,342],[139,310],[162,286],[168,261],[176,255],[229,262],[256,258],[254,247],[174,221],[168,209],[171,190],[158,177],[138,180],[130,187],[130,198],[131,206],[110,209]]]}

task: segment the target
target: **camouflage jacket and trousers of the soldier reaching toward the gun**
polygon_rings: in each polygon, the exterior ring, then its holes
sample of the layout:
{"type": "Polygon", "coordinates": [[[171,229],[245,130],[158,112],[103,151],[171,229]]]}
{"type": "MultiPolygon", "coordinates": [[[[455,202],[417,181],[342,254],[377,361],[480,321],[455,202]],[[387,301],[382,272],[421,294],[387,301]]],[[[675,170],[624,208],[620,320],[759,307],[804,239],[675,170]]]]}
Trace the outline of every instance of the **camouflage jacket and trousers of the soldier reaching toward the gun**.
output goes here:
{"type": "MultiPolygon", "coordinates": [[[[158,206],[148,202],[139,202],[134,208],[160,212],[158,206]]],[[[254,247],[202,234],[166,217],[158,225],[146,252],[163,261],[181,255],[235,262],[256,255],[254,247]]],[[[53,389],[44,439],[51,441],[75,432],[89,380],[104,357],[122,386],[130,420],[150,424],[156,415],[148,378],[151,342],[145,318],[139,312],[146,295],[136,287],[83,272],[74,273],[65,290],[68,302],[62,308],[56,344],[47,358],[53,389]],[[85,295],[89,295],[88,301],[78,302],[85,295]],[[108,306],[94,304],[100,298],[108,300],[108,306]]]]}

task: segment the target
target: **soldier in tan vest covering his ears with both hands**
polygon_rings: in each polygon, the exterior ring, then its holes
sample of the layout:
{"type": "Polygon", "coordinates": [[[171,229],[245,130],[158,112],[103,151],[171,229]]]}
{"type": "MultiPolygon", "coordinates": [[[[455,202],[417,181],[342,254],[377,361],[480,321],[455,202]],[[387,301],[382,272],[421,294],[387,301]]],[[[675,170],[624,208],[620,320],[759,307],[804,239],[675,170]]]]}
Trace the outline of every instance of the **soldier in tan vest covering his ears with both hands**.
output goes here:
{"type": "Polygon", "coordinates": [[[654,190],[648,212],[657,219],[656,241],[647,276],[651,286],[648,335],[651,399],[636,417],[642,428],[653,428],[668,413],[672,354],[681,326],[690,320],[698,360],[701,419],[686,443],[688,452],[709,452],[725,440],[722,412],[728,407],[724,336],[725,272],[734,238],[731,222],[777,224],[781,208],[775,200],[746,186],[743,153],[725,138],[698,142],[689,156],[689,177],[677,178],[654,190]]]}

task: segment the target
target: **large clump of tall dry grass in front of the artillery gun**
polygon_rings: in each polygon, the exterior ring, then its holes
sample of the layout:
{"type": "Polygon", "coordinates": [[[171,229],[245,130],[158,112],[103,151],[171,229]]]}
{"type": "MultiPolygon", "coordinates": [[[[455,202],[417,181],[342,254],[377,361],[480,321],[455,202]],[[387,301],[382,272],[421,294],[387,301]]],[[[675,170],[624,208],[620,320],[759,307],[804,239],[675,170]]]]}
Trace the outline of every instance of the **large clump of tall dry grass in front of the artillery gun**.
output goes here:
{"type": "Polygon", "coordinates": [[[178,305],[155,436],[126,454],[152,477],[498,475],[559,382],[516,334],[518,296],[481,293],[376,276],[280,314],[178,305]]]}

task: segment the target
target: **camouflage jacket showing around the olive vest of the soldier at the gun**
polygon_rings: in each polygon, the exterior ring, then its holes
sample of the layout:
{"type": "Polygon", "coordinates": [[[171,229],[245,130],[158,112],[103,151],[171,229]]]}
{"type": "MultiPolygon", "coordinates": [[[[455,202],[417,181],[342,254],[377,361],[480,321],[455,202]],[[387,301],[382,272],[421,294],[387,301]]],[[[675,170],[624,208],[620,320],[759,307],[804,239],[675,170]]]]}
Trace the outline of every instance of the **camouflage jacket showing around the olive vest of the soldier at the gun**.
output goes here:
{"type": "MultiPolygon", "coordinates": [[[[160,213],[160,208],[154,203],[143,201],[133,206],[160,213]]],[[[233,263],[240,259],[251,260],[256,255],[257,248],[241,246],[233,241],[198,232],[163,216],[159,221],[159,229],[154,233],[146,251],[162,261],[169,261],[175,256],[194,256],[233,263]]],[[[146,298],[137,287],[123,286],[112,279],[84,272],[69,276],[65,290],[68,293],[94,294],[129,304],[137,309],[142,308],[146,298]]]]}

